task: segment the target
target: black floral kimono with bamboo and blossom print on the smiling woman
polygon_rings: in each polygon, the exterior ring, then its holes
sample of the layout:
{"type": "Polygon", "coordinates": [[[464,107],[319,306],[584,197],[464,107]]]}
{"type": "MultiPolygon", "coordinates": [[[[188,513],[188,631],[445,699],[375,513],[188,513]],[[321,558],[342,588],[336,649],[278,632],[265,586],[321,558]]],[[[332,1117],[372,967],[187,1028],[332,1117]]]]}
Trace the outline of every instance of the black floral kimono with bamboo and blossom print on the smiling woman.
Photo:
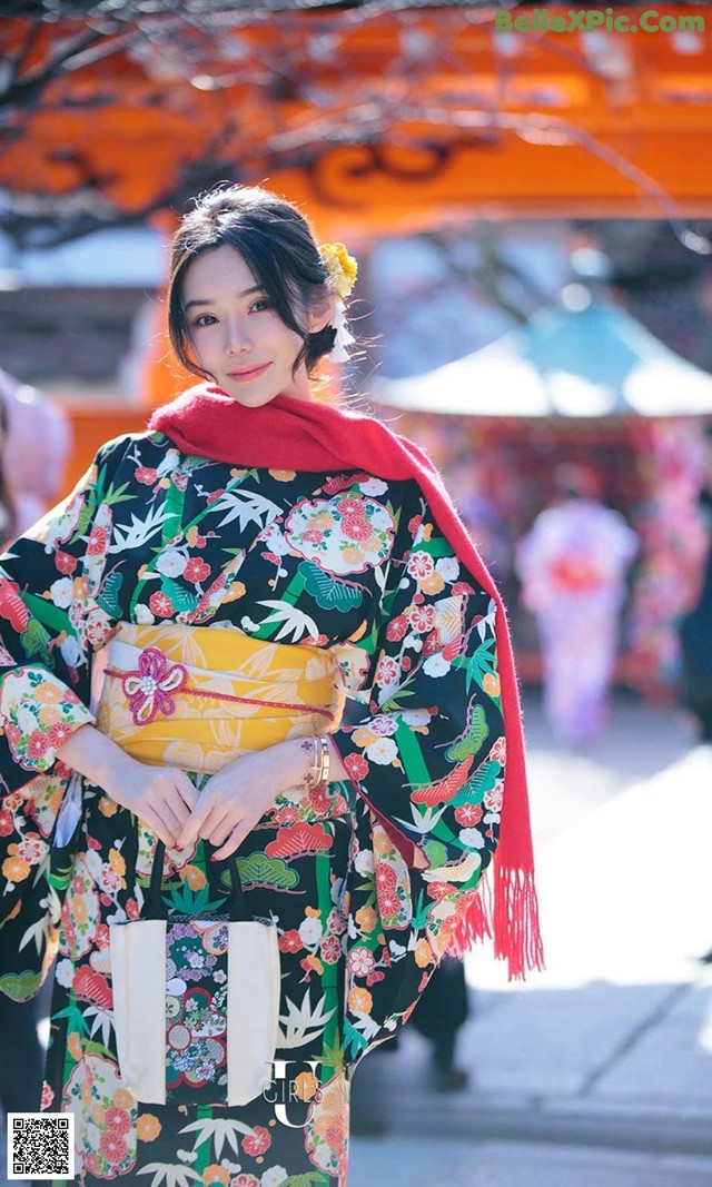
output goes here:
{"type": "MultiPolygon", "coordinates": [[[[0,926],[14,952],[0,989],[37,990],[45,915],[63,901],[43,1107],[75,1113],[76,1181],[341,1187],[350,1069],[408,1018],[496,846],[490,595],[415,481],[240,469],[148,432],[104,445],[0,559],[0,926]],[[140,916],[157,838],[55,757],[72,730],[102,728],[93,684],[96,697],[116,631],[172,624],[328,650],[347,694],[331,736],[349,780],[281,793],[237,852],[281,956],[274,1078],[243,1107],[144,1105],[122,1085],[109,923],[140,916]],[[69,853],[49,845],[68,795],[69,853]]],[[[202,786],[187,753],[171,762],[202,786]]],[[[169,906],[199,915],[225,893],[205,856],[201,840],[167,851],[169,906]]]]}

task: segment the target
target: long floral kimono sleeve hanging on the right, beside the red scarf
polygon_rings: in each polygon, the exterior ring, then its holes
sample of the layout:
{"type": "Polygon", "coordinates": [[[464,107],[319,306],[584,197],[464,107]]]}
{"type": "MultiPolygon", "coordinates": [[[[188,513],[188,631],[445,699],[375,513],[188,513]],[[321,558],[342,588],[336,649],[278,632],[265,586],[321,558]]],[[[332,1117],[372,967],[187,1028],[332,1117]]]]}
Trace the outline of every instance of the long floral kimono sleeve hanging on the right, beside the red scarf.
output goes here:
{"type": "Polygon", "coordinates": [[[357,796],[345,887],[354,1061],[415,1007],[478,893],[502,806],[495,603],[415,489],[374,646],[368,659],[351,652],[342,664],[364,712],[333,735],[357,796]]]}

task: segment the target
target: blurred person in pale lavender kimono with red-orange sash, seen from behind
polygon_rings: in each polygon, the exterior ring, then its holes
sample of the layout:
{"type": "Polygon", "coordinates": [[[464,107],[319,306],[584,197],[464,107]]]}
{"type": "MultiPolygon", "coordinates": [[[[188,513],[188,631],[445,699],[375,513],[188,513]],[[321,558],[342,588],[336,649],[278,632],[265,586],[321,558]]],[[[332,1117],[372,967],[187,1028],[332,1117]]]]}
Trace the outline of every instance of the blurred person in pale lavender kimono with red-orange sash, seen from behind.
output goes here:
{"type": "Polygon", "coordinates": [[[583,745],[605,723],[627,573],[638,540],[599,500],[595,471],[566,463],[558,500],[535,519],[516,551],[523,604],[538,622],[543,706],[555,736],[583,745]]]}

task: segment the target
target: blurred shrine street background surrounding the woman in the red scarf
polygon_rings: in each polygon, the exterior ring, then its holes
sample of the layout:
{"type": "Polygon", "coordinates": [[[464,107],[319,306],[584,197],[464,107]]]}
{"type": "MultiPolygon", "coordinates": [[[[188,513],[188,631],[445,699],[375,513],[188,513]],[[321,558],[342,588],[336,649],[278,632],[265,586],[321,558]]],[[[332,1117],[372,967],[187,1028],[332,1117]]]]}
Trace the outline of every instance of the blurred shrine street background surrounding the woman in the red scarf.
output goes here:
{"type": "Polygon", "coordinates": [[[431,453],[509,605],[547,956],[468,958],[445,1072],[415,1016],[363,1064],[350,1187],[712,1187],[712,14],[303,7],[4,6],[0,535],[192,381],[189,197],[343,240],[328,379],[431,453]]]}

